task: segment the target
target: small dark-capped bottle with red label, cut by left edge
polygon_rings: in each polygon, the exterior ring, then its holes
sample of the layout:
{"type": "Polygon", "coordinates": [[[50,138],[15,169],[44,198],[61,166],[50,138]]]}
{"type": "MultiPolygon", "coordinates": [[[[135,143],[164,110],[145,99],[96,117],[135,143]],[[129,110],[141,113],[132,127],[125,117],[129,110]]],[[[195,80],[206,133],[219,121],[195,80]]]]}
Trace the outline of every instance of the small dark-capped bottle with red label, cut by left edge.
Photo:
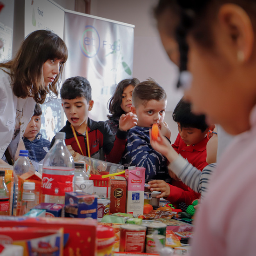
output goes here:
{"type": "Polygon", "coordinates": [[[5,183],[5,171],[0,171],[0,215],[9,215],[10,194],[5,183]]]}

